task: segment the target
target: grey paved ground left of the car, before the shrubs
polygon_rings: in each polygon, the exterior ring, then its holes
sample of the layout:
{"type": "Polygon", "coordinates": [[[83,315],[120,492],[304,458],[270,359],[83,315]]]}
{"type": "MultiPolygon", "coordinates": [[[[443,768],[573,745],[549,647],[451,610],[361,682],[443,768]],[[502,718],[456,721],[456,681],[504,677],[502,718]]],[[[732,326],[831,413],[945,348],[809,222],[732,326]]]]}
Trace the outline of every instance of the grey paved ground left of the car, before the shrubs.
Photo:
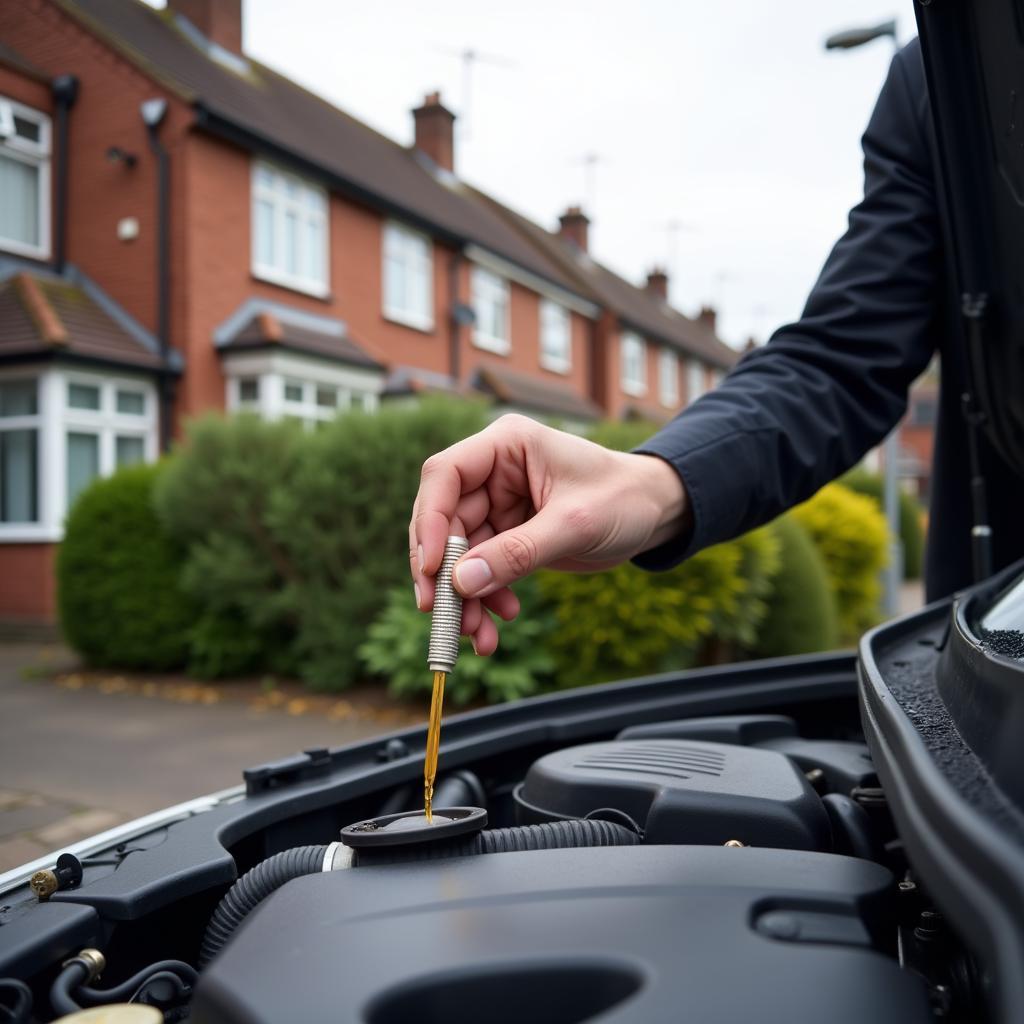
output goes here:
{"type": "Polygon", "coordinates": [[[275,702],[258,683],[255,699],[222,692],[97,681],[57,645],[0,644],[0,872],[234,785],[252,765],[402,724],[348,700],[275,702]]]}

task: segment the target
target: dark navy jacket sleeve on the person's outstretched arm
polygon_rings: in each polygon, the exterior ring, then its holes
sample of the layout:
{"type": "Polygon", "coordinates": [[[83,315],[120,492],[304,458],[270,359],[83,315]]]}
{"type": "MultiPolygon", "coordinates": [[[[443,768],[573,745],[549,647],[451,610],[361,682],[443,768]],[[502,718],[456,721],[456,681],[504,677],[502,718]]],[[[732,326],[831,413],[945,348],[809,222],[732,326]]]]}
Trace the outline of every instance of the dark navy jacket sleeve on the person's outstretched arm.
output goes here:
{"type": "MultiPolygon", "coordinates": [[[[864,133],[864,197],[796,324],[637,451],[667,460],[692,511],[638,556],[671,568],[809,498],[896,425],[935,349],[939,224],[920,47],[906,47],[864,133]]],[[[779,258],[784,258],[780,240],[779,258]]]]}

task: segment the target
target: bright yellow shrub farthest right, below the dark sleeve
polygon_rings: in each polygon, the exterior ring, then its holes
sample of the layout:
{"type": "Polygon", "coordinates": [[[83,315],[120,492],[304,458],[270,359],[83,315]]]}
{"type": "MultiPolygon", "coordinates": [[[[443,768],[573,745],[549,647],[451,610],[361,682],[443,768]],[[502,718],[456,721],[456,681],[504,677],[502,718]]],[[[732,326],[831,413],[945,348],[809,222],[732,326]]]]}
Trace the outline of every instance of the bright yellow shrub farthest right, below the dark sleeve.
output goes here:
{"type": "Polygon", "coordinates": [[[880,573],[889,535],[873,500],[839,483],[822,487],[792,512],[824,559],[836,597],[841,643],[854,643],[881,618],[880,573]]]}

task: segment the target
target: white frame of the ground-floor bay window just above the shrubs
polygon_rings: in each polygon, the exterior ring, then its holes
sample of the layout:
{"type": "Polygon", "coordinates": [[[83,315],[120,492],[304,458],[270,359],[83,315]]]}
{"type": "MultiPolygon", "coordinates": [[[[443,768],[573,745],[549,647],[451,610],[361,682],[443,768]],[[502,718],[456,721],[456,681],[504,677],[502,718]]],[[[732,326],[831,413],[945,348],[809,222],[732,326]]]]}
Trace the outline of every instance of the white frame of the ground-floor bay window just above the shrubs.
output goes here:
{"type": "Polygon", "coordinates": [[[360,370],[305,358],[292,352],[248,352],[225,359],[227,378],[227,410],[231,413],[255,413],[264,420],[282,420],[292,417],[301,420],[307,429],[318,422],[333,420],[353,406],[358,396],[365,412],[376,412],[380,406],[380,392],[384,378],[379,371],[360,370]],[[241,381],[255,379],[259,383],[259,398],[243,401],[241,381]],[[285,385],[298,384],[302,388],[299,401],[285,397],[285,385]],[[317,387],[338,390],[337,406],[318,406],[317,387]]]}

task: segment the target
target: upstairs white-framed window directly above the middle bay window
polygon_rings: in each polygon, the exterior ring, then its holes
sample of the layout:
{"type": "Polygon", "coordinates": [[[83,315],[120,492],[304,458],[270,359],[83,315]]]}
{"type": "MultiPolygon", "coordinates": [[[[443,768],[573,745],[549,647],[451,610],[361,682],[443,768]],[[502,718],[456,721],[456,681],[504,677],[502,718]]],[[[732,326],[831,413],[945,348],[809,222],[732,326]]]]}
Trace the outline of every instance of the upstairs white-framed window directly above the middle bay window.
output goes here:
{"type": "Polygon", "coordinates": [[[252,197],[253,273],[300,292],[327,295],[327,193],[256,163],[252,197]]]}

